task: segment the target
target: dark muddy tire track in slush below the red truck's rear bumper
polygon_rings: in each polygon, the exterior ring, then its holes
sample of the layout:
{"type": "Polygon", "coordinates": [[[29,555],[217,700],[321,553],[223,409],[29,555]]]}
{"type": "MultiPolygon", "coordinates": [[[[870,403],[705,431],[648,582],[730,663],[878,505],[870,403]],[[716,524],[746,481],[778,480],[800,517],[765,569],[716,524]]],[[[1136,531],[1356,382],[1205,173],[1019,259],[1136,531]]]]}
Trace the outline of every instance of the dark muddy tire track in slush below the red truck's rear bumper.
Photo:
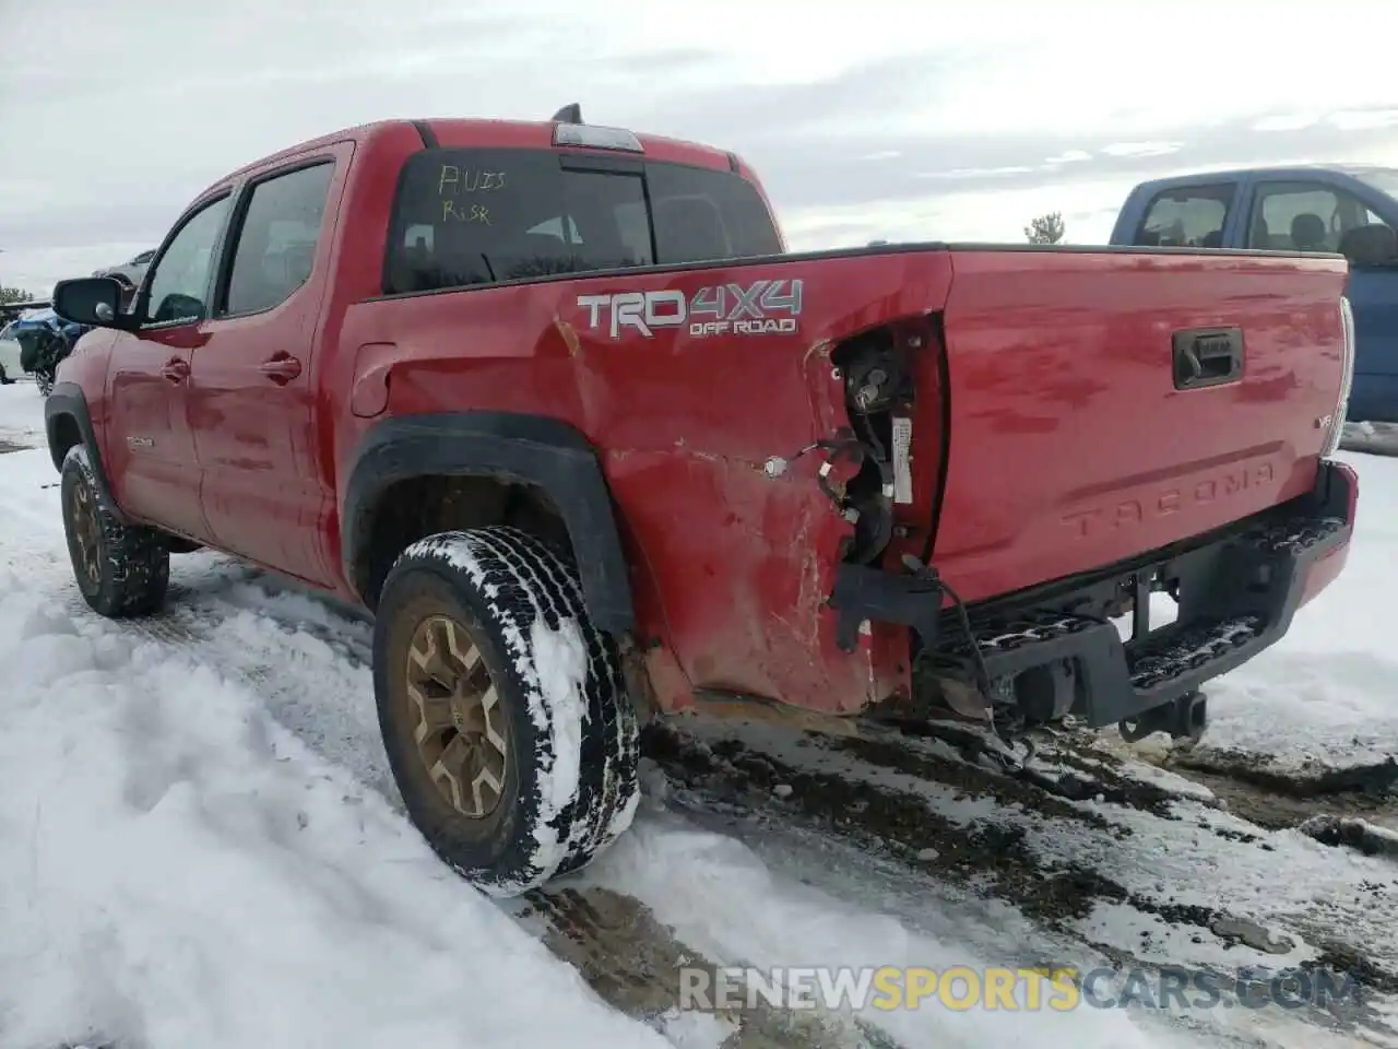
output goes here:
{"type": "Polygon", "coordinates": [[[938,743],[851,743],[700,718],[651,729],[647,752],[688,814],[751,843],[795,828],[842,838],[930,880],[958,908],[1008,904],[1076,944],[1075,958],[1089,948],[1128,968],[1209,968],[1225,987],[1246,966],[1352,969],[1364,993],[1357,1008],[1292,1018],[1398,1034],[1383,1013],[1398,993],[1391,863],[1271,834],[1197,789],[1134,779],[1090,741],[1062,733],[1035,782],[938,743]]]}

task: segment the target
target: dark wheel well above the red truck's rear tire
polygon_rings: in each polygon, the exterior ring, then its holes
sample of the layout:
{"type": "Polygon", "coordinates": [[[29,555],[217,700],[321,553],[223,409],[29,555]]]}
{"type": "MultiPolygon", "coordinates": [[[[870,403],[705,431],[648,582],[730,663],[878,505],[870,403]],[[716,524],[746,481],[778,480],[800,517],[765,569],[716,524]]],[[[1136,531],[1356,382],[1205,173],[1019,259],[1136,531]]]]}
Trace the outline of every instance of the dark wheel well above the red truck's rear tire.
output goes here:
{"type": "Polygon", "coordinates": [[[365,583],[359,596],[377,606],[393,562],[419,538],[488,524],[512,524],[576,557],[562,513],[537,485],[499,477],[410,477],[375,501],[368,541],[355,558],[355,576],[365,583]]]}

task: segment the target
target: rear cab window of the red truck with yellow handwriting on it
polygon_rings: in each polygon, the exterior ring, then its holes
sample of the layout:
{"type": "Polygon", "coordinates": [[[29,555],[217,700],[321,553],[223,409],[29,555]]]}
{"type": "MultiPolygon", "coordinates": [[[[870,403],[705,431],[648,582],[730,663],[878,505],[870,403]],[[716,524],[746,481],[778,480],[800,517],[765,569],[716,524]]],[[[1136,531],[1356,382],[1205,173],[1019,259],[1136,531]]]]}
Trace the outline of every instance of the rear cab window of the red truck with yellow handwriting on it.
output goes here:
{"type": "Polygon", "coordinates": [[[404,164],[384,294],[776,255],[737,173],[551,150],[426,150],[404,164]]]}

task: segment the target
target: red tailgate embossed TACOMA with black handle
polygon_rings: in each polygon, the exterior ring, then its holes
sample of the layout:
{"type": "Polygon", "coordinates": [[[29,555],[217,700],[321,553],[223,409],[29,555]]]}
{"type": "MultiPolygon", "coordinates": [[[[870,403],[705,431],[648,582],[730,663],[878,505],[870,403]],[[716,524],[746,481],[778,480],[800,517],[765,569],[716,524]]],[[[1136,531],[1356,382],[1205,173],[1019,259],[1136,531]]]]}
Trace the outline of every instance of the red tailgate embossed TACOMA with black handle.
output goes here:
{"type": "Polygon", "coordinates": [[[958,249],[935,559],[976,600],[1310,490],[1343,369],[1346,263],[958,249]]]}

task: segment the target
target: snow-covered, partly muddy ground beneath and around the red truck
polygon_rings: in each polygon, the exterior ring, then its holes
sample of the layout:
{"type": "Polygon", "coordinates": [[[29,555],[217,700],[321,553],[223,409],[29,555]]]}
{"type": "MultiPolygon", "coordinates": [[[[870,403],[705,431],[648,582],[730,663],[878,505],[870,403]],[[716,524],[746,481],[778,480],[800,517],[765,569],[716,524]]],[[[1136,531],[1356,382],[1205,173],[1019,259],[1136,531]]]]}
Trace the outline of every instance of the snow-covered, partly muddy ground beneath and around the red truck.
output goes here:
{"type": "Polygon", "coordinates": [[[1313,771],[1398,752],[1398,460],[1355,457],[1346,575],[1213,690],[1191,755],[1215,762],[1206,786],[1074,734],[1036,785],[941,743],[698,723],[656,744],[643,810],[598,864],[495,902],[403,817],[365,617],[199,552],[175,558],[166,614],[99,620],[41,431],[34,386],[0,387],[0,442],[34,446],[0,453],[0,1049],[1398,1045],[1398,863],[1257,825],[1218,789],[1240,754],[1313,771]],[[684,959],[1336,958],[1370,973],[1348,1017],[672,1008],[684,959]]]}

